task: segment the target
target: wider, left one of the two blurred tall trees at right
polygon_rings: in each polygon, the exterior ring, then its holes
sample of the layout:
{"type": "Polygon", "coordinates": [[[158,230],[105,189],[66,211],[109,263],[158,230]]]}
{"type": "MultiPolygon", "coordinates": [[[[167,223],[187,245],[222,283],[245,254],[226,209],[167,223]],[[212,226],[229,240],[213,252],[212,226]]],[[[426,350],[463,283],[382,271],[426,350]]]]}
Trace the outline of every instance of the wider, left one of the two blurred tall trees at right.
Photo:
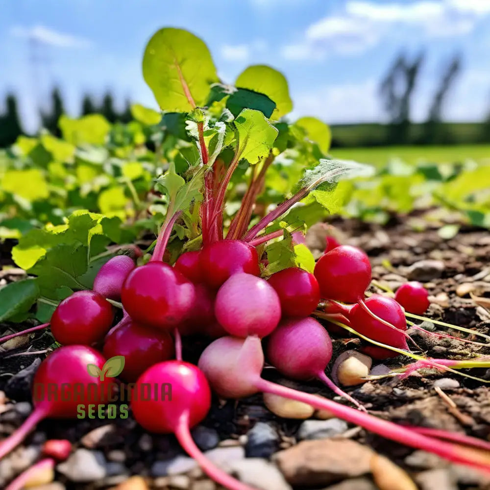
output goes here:
{"type": "Polygon", "coordinates": [[[407,143],[410,139],[410,104],[424,57],[421,52],[410,62],[405,54],[398,55],[381,81],[379,92],[390,117],[389,143],[407,143]]]}

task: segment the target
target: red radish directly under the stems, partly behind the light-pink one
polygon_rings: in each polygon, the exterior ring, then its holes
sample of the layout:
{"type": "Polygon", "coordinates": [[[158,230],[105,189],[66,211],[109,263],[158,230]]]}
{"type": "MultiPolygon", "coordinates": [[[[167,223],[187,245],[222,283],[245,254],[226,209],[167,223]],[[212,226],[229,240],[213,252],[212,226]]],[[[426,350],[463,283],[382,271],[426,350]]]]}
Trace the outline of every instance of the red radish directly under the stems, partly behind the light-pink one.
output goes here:
{"type": "Polygon", "coordinates": [[[203,280],[219,288],[233,274],[260,275],[257,251],[240,240],[220,240],[205,246],[199,259],[203,280]]]}

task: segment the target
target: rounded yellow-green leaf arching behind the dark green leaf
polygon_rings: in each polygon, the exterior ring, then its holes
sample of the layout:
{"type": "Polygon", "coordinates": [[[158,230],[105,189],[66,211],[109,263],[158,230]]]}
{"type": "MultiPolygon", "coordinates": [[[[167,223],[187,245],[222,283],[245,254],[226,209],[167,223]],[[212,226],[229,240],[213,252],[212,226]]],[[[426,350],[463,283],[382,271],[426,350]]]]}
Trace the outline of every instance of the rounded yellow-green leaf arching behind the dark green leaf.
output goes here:
{"type": "Polygon", "coordinates": [[[266,65],[246,68],[235,81],[235,86],[264,94],[276,103],[272,119],[279,119],[293,109],[286,77],[266,65]]]}

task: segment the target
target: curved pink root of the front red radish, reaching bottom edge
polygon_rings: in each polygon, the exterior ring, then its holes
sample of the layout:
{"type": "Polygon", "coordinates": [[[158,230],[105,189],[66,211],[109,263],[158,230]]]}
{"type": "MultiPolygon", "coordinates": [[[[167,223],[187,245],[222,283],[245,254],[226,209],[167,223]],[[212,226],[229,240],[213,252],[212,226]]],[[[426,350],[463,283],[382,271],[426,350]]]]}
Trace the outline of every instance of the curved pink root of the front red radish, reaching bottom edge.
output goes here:
{"type": "Polygon", "coordinates": [[[230,475],[225,473],[223,470],[215,466],[211,461],[209,461],[204,454],[196,446],[192,439],[191,433],[189,431],[189,413],[185,413],[179,420],[177,428],[175,430],[175,437],[179,441],[180,445],[184,450],[194,458],[202,470],[216,483],[222,485],[228,490],[255,490],[248,485],[245,485],[230,475]]]}

